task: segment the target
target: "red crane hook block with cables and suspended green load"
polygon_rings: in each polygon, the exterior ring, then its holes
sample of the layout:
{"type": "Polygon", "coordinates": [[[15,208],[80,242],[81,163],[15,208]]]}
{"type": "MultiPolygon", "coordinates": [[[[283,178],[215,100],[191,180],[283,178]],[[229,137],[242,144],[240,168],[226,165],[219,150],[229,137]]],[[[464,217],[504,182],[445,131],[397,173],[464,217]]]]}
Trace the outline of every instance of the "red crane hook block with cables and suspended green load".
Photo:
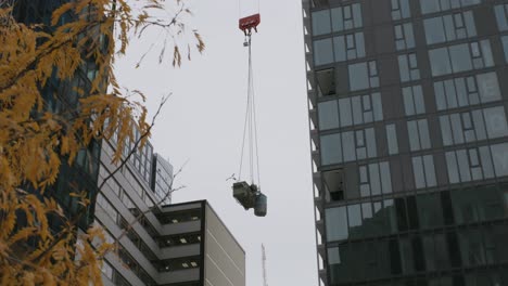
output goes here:
{"type": "Polygon", "coordinates": [[[257,148],[257,123],[256,123],[256,105],[254,96],[254,76],[252,68],[252,30],[257,32],[257,26],[261,23],[261,15],[253,14],[242,17],[239,21],[239,27],[245,35],[243,46],[249,49],[249,82],[247,82],[247,104],[245,110],[245,120],[243,125],[243,138],[240,155],[240,168],[238,182],[232,185],[233,197],[243,206],[245,210],[254,209],[254,214],[265,217],[267,212],[267,197],[261,192],[261,176],[259,176],[259,155],[257,148]],[[250,173],[250,183],[242,181],[243,155],[249,153],[247,167],[250,173]],[[257,184],[255,183],[257,179],[257,184]]]}

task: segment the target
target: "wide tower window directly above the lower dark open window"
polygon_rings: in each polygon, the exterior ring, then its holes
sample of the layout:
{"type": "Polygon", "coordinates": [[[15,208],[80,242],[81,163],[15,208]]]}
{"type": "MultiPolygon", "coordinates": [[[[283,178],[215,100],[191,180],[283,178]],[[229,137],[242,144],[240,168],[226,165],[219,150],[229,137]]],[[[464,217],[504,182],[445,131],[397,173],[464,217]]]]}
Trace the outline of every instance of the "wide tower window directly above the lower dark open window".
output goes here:
{"type": "Polygon", "coordinates": [[[373,128],[321,135],[322,165],[347,162],[376,156],[377,146],[373,128]]]}

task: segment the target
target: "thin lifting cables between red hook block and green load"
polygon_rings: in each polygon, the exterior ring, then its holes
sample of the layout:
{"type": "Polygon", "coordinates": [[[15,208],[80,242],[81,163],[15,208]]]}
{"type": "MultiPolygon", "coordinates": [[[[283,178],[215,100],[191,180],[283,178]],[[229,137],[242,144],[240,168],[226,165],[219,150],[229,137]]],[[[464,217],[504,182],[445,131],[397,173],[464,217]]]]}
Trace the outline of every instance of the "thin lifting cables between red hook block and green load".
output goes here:
{"type": "Polygon", "coordinates": [[[249,171],[251,183],[254,184],[254,179],[257,177],[257,185],[261,188],[259,176],[259,155],[257,145],[257,120],[256,120],[256,103],[254,94],[254,73],[252,67],[252,41],[251,31],[245,34],[244,46],[249,48],[249,82],[247,82],[247,104],[245,109],[245,120],[243,123],[243,139],[240,156],[239,179],[242,177],[243,155],[245,152],[245,143],[249,148],[249,171]],[[245,142],[246,141],[246,142],[245,142]]]}

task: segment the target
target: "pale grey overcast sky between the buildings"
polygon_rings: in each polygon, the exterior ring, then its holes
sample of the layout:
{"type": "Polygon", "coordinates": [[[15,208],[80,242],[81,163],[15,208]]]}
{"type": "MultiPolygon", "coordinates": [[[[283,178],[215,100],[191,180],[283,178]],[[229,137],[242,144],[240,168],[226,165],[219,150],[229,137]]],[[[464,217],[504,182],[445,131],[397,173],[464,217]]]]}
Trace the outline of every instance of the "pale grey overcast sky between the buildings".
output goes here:
{"type": "MultiPolygon", "coordinates": [[[[247,50],[238,29],[239,2],[192,0],[192,26],[206,51],[179,69],[155,57],[134,69],[152,32],[132,41],[132,56],[118,62],[123,83],[149,94],[153,112],[161,95],[174,95],[151,139],[155,152],[178,169],[187,187],[174,203],[207,199],[246,251],[246,285],[263,285],[261,244],[267,249],[268,284],[317,285],[302,9],[299,0],[261,2],[262,24],[253,36],[254,86],[262,191],[268,216],[257,218],[232,198],[246,104],[247,50]]],[[[245,11],[244,11],[245,12],[245,11]]],[[[218,285],[220,286],[220,285],[218,285]]]]}

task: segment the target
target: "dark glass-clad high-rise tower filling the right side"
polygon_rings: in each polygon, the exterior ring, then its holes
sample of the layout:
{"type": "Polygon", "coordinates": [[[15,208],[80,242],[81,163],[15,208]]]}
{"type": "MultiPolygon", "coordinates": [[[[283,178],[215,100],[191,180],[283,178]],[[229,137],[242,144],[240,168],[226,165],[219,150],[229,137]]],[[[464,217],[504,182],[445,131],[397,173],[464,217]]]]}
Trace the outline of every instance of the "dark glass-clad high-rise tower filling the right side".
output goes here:
{"type": "Polygon", "coordinates": [[[303,17],[319,285],[508,285],[508,2],[303,17]]]}

